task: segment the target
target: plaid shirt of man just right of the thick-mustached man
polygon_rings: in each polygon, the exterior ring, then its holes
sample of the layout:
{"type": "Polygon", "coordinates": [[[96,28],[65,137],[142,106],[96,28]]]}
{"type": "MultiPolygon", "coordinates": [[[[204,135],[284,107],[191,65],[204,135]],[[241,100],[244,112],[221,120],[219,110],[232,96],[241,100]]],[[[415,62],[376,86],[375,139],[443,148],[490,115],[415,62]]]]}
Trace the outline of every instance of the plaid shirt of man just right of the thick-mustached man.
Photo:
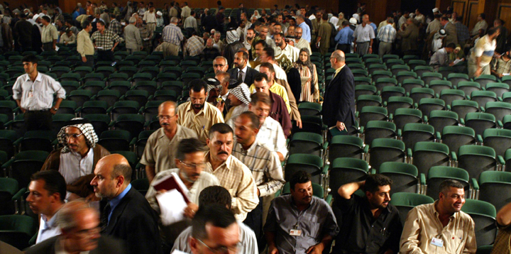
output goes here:
{"type": "Polygon", "coordinates": [[[260,197],[274,194],[284,185],[285,180],[277,153],[273,153],[258,141],[254,141],[248,150],[244,150],[241,144],[235,141],[232,155],[252,171],[260,197]]]}

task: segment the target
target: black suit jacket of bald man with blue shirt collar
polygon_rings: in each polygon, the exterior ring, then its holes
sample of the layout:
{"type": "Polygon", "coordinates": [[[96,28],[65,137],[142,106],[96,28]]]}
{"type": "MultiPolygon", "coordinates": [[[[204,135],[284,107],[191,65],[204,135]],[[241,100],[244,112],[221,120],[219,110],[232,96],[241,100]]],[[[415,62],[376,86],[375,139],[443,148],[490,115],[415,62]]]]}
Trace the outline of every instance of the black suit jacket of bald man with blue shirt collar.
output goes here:
{"type": "Polygon", "coordinates": [[[101,234],[123,240],[128,253],[162,253],[156,212],[145,197],[133,187],[115,207],[108,226],[101,234]]]}

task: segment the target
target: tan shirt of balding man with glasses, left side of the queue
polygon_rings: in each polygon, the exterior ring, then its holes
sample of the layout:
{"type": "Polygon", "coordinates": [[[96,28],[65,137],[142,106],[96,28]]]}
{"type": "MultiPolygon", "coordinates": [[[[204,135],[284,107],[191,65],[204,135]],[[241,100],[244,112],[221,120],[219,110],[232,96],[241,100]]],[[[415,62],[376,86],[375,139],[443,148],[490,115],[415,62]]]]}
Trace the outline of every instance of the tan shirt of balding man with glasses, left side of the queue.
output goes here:
{"type": "Polygon", "coordinates": [[[159,128],[149,136],[140,163],[154,166],[155,174],[174,168],[175,151],[181,140],[185,138],[197,138],[197,133],[178,124],[174,138],[169,140],[163,128],[159,128]]]}

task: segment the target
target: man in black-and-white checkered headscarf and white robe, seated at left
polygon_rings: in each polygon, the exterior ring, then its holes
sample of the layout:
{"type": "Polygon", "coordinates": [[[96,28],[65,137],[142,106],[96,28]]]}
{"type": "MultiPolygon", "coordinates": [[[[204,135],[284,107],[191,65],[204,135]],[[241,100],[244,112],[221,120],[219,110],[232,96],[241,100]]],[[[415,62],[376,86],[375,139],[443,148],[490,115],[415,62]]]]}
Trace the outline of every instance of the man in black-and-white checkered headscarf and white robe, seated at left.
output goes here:
{"type": "Polygon", "coordinates": [[[94,178],[94,167],[99,159],[110,152],[97,144],[94,126],[87,119],[72,118],[60,129],[57,140],[63,148],[50,153],[41,171],[60,172],[67,184],[67,200],[79,197],[89,201],[99,200],[89,183],[94,178]]]}

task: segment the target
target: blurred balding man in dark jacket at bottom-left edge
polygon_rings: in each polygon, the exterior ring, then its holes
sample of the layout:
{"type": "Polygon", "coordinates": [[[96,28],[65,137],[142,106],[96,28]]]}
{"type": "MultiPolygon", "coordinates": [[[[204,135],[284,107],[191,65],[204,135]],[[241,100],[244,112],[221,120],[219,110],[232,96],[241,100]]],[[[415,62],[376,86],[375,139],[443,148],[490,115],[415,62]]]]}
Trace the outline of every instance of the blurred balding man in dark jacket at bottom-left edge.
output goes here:
{"type": "Polygon", "coordinates": [[[123,254],[120,241],[99,235],[99,214],[84,201],[71,201],[60,210],[57,223],[62,230],[60,236],[33,245],[28,254],[81,253],[123,254]]]}

